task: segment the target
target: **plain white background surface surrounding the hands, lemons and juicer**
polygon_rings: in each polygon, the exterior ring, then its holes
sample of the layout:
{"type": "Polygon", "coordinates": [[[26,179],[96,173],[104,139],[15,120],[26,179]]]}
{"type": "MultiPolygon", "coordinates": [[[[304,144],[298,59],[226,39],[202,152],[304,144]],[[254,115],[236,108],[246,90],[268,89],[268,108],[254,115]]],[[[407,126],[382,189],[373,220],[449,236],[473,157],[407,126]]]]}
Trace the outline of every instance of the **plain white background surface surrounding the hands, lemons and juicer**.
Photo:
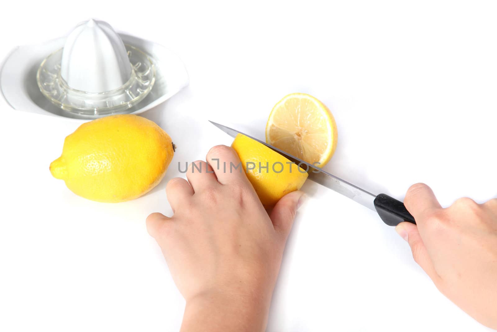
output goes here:
{"type": "MultiPolygon", "coordinates": [[[[0,330],[177,331],[184,302],[145,229],[171,214],[177,163],[231,138],[263,138],[291,92],[323,101],[338,125],[326,169],[403,199],[414,182],[443,206],[496,197],[495,1],[8,1],[0,57],[94,17],[175,51],[190,86],[143,115],[178,149],[164,181],[120,204],[52,178],[78,124],[0,100],[0,330]]],[[[34,77],[33,77],[34,79],[34,77]]],[[[308,182],[267,331],[487,331],[438,293],[378,216],[308,182]]]]}

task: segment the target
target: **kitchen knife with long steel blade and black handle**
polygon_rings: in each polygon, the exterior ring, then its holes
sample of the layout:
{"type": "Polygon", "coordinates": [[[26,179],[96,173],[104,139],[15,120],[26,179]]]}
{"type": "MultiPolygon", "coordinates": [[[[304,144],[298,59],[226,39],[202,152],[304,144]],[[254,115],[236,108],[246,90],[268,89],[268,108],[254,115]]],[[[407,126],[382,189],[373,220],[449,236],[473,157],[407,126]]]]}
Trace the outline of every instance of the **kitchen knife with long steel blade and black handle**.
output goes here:
{"type": "Polygon", "coordinates": [[[299,165],[302,169],[307,170],[307,172],[309,173],[308,179],[317,182],[320,185],[323,185],[327,188],[330,188],[331,190],[334,190],[335,192],[342,194],[343,196],[346,196],[359,204],[362,204],[366,208],[376,211],[380,216],[381,220],[383,220],[383,222],[385,222],[389,226],[397,226],[402,221],[409,221],[412,223],[416,223],[414,221],[414,217],[407,211],[406,207],[404,206],[404,203],[396,200],[393,197],[390,197],[386,194],[379,194],[375,196],[370,192],[365,191],[362,188],[354,186],[350,182],[342,180],[322,170],[321,168],[313,166],[303,161],[302,159],[294,157],[272,145],[267,144],[266,142],[263,142],[257,138],[254,138],[250,135],[247,135],[243,132],[227,127],[225,125],[210,120],[209,122],[211,122],[216,127],[226,132],[231,137],[236,137],[238,134],[242,134],[247,137],[250,137],[253,140],[256,140],[261,144],[264,144],[265,146],[278,152],[279,154],[282,154],[290,161],[299,165]]]}

